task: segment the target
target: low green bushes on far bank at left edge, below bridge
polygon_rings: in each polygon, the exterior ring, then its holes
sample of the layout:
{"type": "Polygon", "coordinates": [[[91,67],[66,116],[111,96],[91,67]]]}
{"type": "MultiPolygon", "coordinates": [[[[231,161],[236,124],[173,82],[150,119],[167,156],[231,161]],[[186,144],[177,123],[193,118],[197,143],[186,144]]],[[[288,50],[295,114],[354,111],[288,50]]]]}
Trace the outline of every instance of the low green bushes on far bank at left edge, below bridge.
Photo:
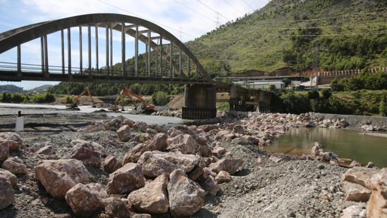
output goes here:
{"type": "Polygon", "coordinates": [[[55,102],[55,96],[51,93],[26,95],[10,94],[3,92],[0,98],[1,103],[52,103],[55,102]]]}

